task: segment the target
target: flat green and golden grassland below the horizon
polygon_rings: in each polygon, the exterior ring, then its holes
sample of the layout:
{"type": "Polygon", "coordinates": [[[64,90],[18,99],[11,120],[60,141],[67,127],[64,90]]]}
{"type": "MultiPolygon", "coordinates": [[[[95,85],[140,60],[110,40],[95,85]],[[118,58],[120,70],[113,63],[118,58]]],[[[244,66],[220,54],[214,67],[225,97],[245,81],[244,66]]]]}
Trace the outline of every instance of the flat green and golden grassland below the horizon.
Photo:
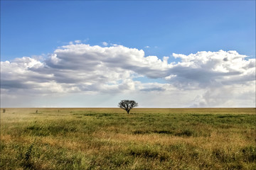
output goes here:
{"type": "Polygon", "coordinates": [[[1,108],[0,169],[256,169],[255,111],[1,108]]]}

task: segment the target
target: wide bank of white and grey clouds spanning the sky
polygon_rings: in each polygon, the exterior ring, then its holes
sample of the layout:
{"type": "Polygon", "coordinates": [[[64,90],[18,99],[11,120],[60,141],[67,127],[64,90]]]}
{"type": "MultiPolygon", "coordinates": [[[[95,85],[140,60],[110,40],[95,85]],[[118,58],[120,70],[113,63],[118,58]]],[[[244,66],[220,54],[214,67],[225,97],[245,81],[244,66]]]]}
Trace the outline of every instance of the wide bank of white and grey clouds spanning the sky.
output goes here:
{"type": "Polygon", "coordinates": [[[255,59],[247,60],[236,51],[173,54],[181,61],[169,63],[169,57],[145,56],[143,50],[122,45],[75,43],[58,47],[45,60],[21,57],[1,62],[1,93],[4,97],[135,93],[140,98],[151,94],[160,103],[166,103],[161,99],[166,95],[174,95],[186,101],[185,107],[255,105],[255,59]],[[143,83],[136,77],[165,83],[143,83]]]}

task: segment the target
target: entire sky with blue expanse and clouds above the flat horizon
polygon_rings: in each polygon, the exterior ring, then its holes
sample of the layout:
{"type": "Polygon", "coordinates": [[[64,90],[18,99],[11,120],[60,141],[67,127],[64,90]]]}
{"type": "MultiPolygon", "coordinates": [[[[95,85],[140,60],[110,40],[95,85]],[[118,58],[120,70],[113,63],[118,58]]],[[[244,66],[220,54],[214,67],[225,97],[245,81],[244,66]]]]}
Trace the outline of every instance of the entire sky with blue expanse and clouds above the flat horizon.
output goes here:
{"type": "Polygon", "coordinates": [[[1,1],[1,107],[255,107],[255,1],[1,1]]]}

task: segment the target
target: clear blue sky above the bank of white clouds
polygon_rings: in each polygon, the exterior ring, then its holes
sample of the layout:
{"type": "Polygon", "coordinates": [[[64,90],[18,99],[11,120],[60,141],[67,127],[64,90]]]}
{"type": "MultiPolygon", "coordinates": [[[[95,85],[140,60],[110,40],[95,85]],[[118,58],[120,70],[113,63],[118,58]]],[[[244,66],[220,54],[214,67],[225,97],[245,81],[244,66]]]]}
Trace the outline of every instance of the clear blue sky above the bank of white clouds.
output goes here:
{"type": "Polygon", "coordinates": [[[255,57],[255,1],[1,1],[1,61],[72,40],[149,46],[146,54],[159,57],[202,50],[255,57]]]}

